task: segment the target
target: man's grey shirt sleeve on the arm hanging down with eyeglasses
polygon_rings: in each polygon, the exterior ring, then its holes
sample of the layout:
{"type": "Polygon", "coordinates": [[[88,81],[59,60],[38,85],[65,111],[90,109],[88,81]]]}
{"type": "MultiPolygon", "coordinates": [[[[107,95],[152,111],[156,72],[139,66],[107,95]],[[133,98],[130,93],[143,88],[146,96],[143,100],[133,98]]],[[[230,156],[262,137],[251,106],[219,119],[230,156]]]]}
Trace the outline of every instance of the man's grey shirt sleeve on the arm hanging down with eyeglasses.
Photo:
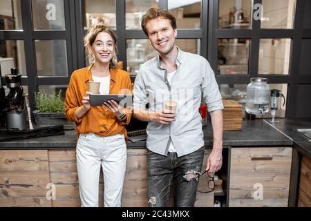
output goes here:
{"type": "Polygon", "coordinates": [[[202,75],[202,93],[207,104],[208,111],[213,112],[223,110],[223,99],[220,95],[215,73],[206,60],[205,66],[203,66],[202,75]]]}

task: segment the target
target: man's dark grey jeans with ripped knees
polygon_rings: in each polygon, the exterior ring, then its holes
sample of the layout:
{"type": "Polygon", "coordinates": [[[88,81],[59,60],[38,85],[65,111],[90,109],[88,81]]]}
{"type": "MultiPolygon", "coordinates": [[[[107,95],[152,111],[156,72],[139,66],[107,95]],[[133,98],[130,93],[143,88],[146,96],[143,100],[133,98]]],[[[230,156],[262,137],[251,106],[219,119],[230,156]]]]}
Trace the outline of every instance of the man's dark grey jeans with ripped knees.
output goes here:
{"type": "Polygon", "coordinates": [[[194,207],[196,189],[202,168],[205,147],[177,157],[176,153],[167,156],[147,149],[148,200],[150,207],[167,207],[174,183],[174,206],[194,207]]]}

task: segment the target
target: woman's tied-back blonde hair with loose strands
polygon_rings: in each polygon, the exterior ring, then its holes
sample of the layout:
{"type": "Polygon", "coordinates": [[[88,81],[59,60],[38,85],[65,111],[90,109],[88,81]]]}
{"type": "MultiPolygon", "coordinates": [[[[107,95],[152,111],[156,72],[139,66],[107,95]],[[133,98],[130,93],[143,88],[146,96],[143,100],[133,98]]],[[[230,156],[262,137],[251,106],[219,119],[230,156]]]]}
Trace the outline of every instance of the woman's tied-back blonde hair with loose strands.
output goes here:
{"type": "Polygon", "coordinates": [[[103,22],[98,23],[97,25],[93,26],[88,30],[87,34],[84,37],[84,48],[88,53],[88,55],[91,55],[92,52],[90,51],[88,46],[93,46],[94,41],[100,32],[106,32],[112,37],[114,41],[115,55],[113,56],[113,59],[111,59],[110,61],[110,68],[117,68],[117,55],[119,55],[119,52],[117,51],[117,35],[115,35],[115,32],[113,32],[113,30],[109,28],[109,26],[106,26],[105,23],[103,22]]]}

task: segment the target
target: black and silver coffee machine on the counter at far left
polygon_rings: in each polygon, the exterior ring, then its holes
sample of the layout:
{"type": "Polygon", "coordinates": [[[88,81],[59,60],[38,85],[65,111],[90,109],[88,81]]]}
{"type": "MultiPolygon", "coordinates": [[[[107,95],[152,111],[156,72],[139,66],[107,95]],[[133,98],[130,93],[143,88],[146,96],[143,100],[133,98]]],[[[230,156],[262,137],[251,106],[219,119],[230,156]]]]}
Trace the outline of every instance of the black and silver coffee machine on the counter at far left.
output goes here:
{"type": "Polygon", "coordinates": [[[6,86],[10,89],[6,95],[6,129],[7,131],[23,131],[29,128],[26,99],[21,86],[21,74],[17,68],[11,68],[6,75],[6,86]]]}

